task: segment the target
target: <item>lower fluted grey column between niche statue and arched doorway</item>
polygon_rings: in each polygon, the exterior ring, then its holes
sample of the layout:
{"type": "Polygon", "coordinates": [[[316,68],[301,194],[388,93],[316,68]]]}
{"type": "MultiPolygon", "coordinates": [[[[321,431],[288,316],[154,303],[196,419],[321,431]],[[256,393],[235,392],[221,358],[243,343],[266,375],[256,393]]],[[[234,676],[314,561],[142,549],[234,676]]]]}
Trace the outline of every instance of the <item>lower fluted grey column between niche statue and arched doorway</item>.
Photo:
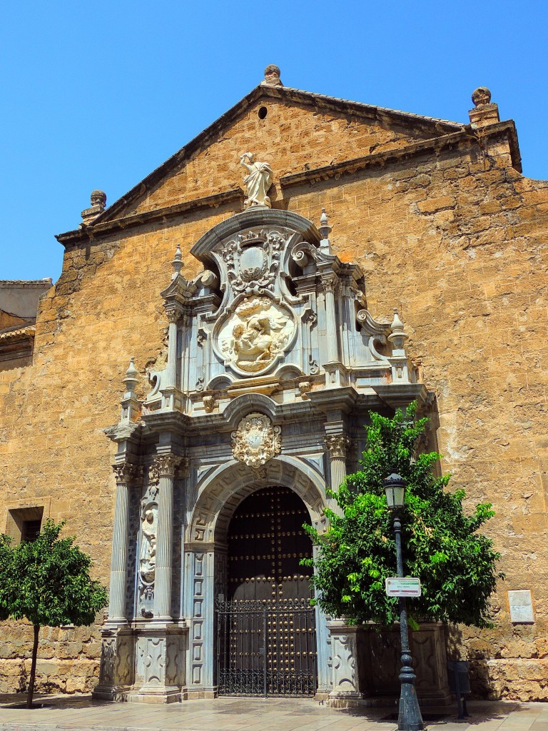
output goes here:
{"type": "Polygon", "coordinates": [[[162,455],[154,461],[159,473],[154,618],[161,621],[172,618],[173,482],[180,461],[175,455],[162,455]]]}

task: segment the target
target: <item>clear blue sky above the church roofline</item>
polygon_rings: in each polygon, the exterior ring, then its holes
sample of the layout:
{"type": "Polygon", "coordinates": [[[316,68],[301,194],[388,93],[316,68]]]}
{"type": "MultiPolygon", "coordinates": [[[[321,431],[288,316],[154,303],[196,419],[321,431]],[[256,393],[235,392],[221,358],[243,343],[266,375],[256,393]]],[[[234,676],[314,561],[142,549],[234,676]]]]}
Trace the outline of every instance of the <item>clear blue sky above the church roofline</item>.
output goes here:
{"type": "Polygon", "coordinates": [[[108,203],[281,67],[286,86],[468,121],[488,86],[523,172],[548,178],[548,3],[6,2],[0,279],[54,281],[94,188],[108,203]]]}

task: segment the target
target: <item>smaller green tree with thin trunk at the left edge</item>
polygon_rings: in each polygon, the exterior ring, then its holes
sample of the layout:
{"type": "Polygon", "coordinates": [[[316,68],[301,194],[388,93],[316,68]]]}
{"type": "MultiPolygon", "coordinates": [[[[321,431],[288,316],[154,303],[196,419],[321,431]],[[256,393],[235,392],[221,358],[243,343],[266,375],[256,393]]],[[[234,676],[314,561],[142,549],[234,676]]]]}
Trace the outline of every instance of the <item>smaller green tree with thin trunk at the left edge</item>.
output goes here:
{"type": "Polygon", "coordinates": [[[10,545],[0,534],[0,619],[28,619],[34,627],[26,707],[32,707],[41,626],[89,625],[107,605],[107,589],[91,580],[91,558],[74,537],[59,538],[64,522],[47,520],[34,541],[10,545]]]}

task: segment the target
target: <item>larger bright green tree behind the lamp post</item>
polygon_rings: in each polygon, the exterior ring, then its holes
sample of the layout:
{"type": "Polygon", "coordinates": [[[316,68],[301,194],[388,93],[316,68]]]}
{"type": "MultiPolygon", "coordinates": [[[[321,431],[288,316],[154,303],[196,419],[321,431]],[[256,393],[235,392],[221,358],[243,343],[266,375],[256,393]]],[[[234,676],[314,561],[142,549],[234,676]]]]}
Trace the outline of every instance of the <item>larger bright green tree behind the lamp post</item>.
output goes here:
{"type": "Polygon", "coordinates": [[[384,591],[384,580],[396,576],[392,515],[383,480],[400,474],[407,482],[402,512],[403,561],[406,575],[419,577],[422,596],[408,602],[411,626],[424,621],[492,626],[490,596],[503,578],[492,540],[478,532],[494,515],[479,504],[465,515],[465,492],[446,490],[449,475],[435,477],[436,452],[416,454],[428,420],[415,420],[416,403],[393,419],[370,412],[361,469],[331,492],[343,516],[328,510],[330,528],[319,534],[305,529],[318,547],[313,581],[327,614],[351,621],[388,625],[399,620],[397,599],[384,591]]]}

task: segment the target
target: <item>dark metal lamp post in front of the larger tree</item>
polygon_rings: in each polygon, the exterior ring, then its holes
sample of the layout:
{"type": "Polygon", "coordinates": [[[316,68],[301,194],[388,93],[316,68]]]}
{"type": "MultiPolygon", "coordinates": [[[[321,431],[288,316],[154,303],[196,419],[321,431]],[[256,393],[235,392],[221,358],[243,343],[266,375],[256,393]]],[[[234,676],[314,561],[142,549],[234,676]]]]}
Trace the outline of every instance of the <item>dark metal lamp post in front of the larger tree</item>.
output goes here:
{"type": "MultiPolygon", "coordinates": [[[[401,548],[401,521],[400,511],[405,504],[406,481],[399,474],[391,474],[384,480],[384,491],[387,493],[387,504],[394,518],[394,535],[396,540],[397,575],[403,577],[403,555],[401,548]]],[[[419,701],[416,697],[415,678],[411,663],[411,649],[407,626],[407,606],[405,596],[400,596],[400,635],[401,635],[401,662],[400,670],[400,711],[397,716],[399,731],[422,731],[425,724],[422,721],[419,701]]]]}

